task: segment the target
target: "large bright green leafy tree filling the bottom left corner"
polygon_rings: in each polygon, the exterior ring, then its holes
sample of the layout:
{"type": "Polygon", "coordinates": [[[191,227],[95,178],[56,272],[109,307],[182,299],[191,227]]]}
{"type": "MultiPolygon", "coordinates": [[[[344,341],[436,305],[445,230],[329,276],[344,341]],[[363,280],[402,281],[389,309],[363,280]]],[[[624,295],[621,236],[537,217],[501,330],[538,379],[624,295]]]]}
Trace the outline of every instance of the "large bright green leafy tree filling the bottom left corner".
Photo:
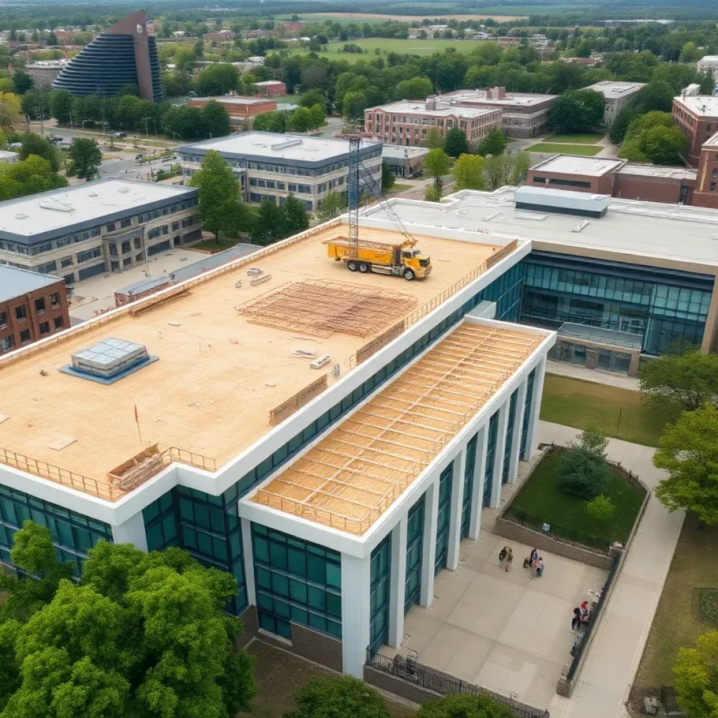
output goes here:
{"type": "MultiPolygon", "coordinates": [[[[35,531],[52,546],[47,528],[35,531]]],[[[241,624],[223,613],[236,590],[231,574],[180,549],[146,554],[100,541],[81,585],[60,579],[29,620],[0,626],[0,644],[19,667],[4,716],[230,718],[248,710],[253,659],[233,650],[241,624]]]]}

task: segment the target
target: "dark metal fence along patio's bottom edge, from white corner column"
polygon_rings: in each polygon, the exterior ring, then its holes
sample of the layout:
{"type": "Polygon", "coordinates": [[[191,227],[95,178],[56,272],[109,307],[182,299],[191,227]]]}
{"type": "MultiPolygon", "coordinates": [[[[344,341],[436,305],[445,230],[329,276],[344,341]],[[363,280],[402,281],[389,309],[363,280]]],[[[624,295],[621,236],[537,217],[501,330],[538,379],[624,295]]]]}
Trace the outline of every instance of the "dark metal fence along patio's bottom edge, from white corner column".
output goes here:
{"type": "Polygon", "coordinates": [[[368,648],[366,665],[382,673],[388,673],[394,678],[442,695],[470,694],[480,696],[487,694],[498,703],[510,707],[517,718],[550,718],[547,710],[528,706],[510,696],[503,696],[488,689],[480,688],[480,686],[475,686],[472,683],[466,683],[452,676],[447,676],[446,673],[433,671],[431,668],[426,668],[421,663],[417,663],[413,658],[404,658],[403,656],[387,658],[382,656],[381,653],[376,653],[368,648]]]}

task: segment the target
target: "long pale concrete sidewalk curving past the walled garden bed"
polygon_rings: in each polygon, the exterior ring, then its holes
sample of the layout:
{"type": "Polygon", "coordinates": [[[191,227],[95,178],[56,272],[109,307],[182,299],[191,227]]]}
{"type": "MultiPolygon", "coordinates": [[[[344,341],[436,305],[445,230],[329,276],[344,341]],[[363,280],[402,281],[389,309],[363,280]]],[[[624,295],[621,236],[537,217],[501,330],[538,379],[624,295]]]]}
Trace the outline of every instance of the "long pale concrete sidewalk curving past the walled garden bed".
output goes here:
{"type": "MultiPolygon", "coordinates": [[[[567,444],[577,429],[538,422],[538,442],[567,444]]],[[[653,489],[664,472],[651,464],[656,449],[608,440],[608,457],[620,461],[653,489]]],[[[683,513],[668,513],[651,495],[612,595],[594,635],[571,699],[554,696],[551,718],[612,718],[627,715],[625,701],[651,630],[663,582],[676,549],[683,513]]]]}

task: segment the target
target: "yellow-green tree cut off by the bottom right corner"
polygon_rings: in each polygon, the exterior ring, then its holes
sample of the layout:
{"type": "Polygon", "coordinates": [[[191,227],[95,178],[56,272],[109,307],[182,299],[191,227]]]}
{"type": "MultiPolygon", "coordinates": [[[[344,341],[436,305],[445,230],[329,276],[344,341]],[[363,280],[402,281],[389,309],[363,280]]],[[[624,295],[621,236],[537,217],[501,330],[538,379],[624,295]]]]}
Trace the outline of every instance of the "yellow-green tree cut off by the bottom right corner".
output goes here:
{"type": "Polygon", "coordinates": [[[678,704],[687,718],[712,718],[718,694],[718,631],[699,635],[696,648],[679,648],[673,676],[678,704]]]}

